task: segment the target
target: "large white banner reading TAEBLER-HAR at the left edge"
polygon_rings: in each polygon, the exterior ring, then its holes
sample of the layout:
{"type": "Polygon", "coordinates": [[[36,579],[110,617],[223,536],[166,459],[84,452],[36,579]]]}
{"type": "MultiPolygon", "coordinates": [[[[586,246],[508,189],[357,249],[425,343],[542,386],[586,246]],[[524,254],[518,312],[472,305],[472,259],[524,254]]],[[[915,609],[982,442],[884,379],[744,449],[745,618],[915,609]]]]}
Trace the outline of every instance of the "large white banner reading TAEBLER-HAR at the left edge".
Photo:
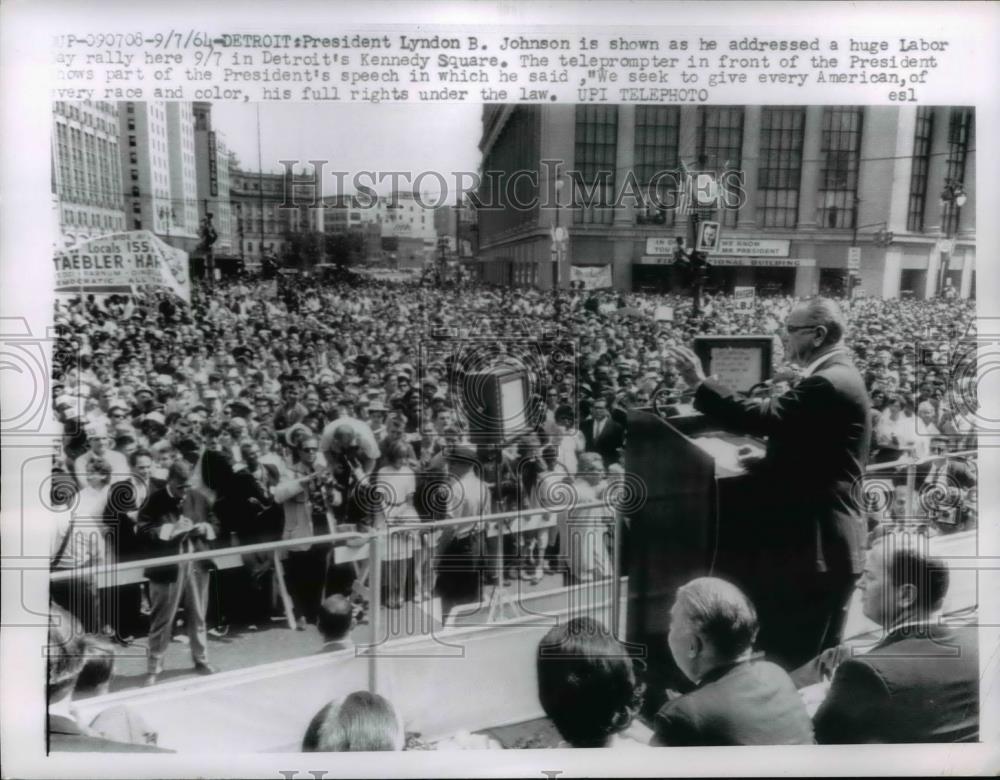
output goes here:
{"type": "Polygon", "coordinates": [[[56,252],[56,292],[168,290],[191,300],[188,255],[149,230],[112,233],[56,252]]]}

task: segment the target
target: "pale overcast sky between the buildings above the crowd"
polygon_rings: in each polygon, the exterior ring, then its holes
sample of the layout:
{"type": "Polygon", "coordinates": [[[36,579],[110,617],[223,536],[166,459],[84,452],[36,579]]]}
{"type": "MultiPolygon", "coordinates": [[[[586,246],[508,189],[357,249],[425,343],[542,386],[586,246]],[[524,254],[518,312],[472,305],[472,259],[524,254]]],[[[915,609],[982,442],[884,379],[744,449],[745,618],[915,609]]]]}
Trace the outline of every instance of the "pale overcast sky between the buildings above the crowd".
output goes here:
{"type": "MultiPolygon", "coordinates": [[[[452,172],[479,168],[481,112],[478,103],[262,103],[261,160],[265,171],[274,172],[283,170],[282,159],[328,160],[324,188],[331,189],[331,170],[414,171],[414,176],[439,171],[451,187],[452,172]]],[[[244,170],[257,170],[255,104],[215,103],[212,127],[225,136],[244,170]]],[[[423,192],[439,188],[431,177],[421,184],[423,192]]],[[[386,194],[390,182],[375,189],[386,194]]],[[[324,195],[333,194],[324,189],[324,195]]]]}

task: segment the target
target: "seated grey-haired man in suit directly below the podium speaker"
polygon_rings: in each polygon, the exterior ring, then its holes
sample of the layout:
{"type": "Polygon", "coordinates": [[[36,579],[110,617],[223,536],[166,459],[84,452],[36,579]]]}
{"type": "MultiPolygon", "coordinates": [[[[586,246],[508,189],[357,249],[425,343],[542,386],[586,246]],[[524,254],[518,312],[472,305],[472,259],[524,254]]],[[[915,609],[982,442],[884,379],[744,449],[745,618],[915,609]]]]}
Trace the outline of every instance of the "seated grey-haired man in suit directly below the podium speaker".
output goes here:
{"type": "Polygon", "coordinates": [[[755,660],[757,614],[735,585],[700,577],[679,588],[668,642],[697,688],[657,713],[650,744],[810,745],[812,724],[788,674],[755,660]]]}

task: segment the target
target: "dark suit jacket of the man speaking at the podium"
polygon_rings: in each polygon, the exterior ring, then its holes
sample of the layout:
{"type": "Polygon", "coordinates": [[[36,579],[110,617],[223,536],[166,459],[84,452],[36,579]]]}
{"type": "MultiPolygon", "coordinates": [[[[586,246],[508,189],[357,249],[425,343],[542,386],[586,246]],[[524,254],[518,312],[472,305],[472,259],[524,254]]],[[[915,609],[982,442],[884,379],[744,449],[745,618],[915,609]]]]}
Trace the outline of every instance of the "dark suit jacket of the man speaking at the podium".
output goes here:
{"type": "Polygon", "coordinates": [[[834,354],[783,395],[745,401],[717,382],[698,388],[695,408],[728,430],[767,436],[753,472],[769,516],[770,564],[787,576],[858,574],[864,564],[859,484],[868,461],[871,421],[861,375],[834,354]]]}

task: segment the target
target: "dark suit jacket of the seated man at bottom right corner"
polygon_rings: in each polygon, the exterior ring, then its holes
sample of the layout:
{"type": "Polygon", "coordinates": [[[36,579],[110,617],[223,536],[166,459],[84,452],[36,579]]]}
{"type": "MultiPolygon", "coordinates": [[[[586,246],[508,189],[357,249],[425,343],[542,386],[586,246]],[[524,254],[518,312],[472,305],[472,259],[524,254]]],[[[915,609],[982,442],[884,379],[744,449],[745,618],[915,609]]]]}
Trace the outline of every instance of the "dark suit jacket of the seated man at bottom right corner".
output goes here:
{"type": "Polygon", "coordinates": [[[824,744],[977,741],[976,629],[924,625],[890,633],[837,667],[813,723],[824,744]]]}

